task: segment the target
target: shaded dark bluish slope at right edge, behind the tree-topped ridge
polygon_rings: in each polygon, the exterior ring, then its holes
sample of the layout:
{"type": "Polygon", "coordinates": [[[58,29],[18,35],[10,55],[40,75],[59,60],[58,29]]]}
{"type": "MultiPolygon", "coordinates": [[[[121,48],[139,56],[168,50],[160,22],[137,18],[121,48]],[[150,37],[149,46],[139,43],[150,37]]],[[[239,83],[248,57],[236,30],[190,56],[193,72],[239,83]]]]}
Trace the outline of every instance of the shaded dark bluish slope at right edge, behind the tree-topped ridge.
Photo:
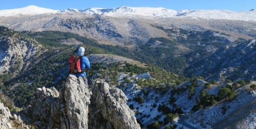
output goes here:
{"type": "Polygon", "coordinates": [[[255,80],[255,57],[255,40],[244,41],[216,50],[206,59],[188,67],[186,73],[194,76],[202,75],[207,80],[255,80]]]}

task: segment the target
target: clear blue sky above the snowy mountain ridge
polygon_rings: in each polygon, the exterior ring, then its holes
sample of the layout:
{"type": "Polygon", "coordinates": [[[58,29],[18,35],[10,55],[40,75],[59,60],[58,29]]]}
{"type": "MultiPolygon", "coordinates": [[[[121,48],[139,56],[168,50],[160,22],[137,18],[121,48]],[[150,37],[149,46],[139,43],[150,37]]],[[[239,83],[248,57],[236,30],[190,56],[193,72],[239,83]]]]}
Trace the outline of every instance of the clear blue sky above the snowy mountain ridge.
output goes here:
{"type": "Polygon", "coordinates": [[[91,7],[118,8],[164,7],[173,10],[217,9],[249,11],[256,9],[256,0],[0,0],[0,10],[21,8],[29,5],[63,10],[67,8],[88,9],[91,7]]]}

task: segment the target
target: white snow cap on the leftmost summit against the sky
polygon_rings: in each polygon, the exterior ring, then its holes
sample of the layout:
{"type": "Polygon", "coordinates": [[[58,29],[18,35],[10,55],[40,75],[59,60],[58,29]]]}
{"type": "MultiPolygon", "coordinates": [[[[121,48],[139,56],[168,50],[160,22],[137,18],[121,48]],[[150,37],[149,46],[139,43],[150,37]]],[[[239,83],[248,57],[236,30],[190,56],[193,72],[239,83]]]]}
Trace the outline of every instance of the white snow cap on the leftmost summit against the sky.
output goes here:
{"type": "Polygon", "coordinates": [[[36,15],[42,13],[56,13],[59,10],[53,10],[48,8],[42,8],[38,6],[27,6],[23,8],[17,9],[7,9],[7,10],[0,10],[0,17],[9,17],[9,16],[16,16],[16,15],[36,15]]]}

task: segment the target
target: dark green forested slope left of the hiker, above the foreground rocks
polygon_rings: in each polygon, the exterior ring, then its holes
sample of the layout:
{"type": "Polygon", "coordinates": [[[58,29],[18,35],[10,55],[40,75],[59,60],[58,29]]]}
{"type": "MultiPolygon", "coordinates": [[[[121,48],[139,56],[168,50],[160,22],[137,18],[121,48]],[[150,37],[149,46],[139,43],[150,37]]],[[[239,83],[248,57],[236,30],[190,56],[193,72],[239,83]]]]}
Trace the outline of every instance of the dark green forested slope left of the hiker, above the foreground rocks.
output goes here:
{"type": "Polygon", "coordinates": [[[61,88],[68,74],[66,66],[68,66],[67,59],[71,53],[71,50],[67,51],[63,48],[48,48],[46,55],[40,55],[38,59],[31,62],[29,69],[22,71],[15,78],[5,79],[6,76],[0,76],[0,80],[5,80],[0,90],[12,98],[16,106],[23,107],[29,104],[36,88],[43,86],[61,88]],[[36,61],[40,62],[34,64],[36,61]],[[61,69],[62,75],[59,72],[61,69]]]}

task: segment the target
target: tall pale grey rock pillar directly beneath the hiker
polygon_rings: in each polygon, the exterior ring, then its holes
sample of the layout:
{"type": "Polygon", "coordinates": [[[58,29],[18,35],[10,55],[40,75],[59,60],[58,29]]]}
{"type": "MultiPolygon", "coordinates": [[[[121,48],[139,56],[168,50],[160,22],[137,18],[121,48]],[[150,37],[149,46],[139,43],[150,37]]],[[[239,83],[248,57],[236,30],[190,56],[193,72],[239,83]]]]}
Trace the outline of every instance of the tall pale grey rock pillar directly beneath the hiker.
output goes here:
{"type": "Polygon", "coordinates": [[[88,129],[90,95],[88,87],[81,77],[68,76],[64,98],[70,129],[88,129]]]}

